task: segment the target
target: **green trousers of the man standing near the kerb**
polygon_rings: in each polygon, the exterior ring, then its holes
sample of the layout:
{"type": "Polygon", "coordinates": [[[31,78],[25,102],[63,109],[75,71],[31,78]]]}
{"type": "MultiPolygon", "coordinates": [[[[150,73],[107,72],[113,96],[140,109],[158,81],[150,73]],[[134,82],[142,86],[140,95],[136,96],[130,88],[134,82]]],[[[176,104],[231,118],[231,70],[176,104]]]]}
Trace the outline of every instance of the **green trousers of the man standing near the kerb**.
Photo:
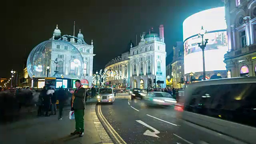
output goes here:
{"type": "Polygon", "coordinates": [[[76,131],[84,132],[84,110],[74,110],[76,120],[76,131]]]}

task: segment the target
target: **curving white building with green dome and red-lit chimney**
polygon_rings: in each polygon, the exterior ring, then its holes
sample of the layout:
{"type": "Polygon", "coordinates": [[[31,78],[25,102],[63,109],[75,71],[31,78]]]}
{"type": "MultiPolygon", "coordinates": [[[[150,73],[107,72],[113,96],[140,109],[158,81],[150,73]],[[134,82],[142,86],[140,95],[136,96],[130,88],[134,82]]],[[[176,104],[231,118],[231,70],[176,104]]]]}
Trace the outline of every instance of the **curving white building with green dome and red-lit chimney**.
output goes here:
{"type": "MultiPolygon", "coordinates": [[[[166,49],[164,43],[164,26],[160,25],[160,33],[145,32],[141,36],[138,46],[130,42],[130,51],[108,62],[106,68],[120,70],[127,79],[130,88],[154,87],[153,79],[164,81],[159,86],[166,87],[166,49]],[[121,65],[121,66],[120,66],[121,65]]],[[[106,69],[105,68],[105,69],[106,69]]],[[[111,80],[112,84],[114,81],[111,80]]]]}

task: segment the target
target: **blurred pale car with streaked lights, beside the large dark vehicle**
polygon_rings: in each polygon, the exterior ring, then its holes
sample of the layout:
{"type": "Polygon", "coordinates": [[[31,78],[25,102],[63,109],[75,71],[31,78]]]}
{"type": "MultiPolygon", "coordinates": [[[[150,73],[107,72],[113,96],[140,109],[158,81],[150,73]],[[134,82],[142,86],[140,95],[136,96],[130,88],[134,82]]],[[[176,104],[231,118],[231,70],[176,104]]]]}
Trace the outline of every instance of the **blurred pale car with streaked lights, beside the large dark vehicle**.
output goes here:
{"type": "Polygon", "coordinates": [[[170,106],[177,103],[167,92],[149,92],[145,99],[148,105],[170,106]]]}

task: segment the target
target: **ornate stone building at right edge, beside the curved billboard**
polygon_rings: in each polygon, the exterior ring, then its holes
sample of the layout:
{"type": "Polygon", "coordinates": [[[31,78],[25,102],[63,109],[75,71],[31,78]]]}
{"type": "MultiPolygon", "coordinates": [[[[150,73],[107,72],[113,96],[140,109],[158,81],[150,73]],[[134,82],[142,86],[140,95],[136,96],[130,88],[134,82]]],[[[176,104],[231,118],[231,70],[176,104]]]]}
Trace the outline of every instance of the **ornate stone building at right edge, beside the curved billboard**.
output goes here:
{"type": "Polygon", "coordinates": [[[256,1],[224,0],[229,50],[228,78],[256,76],[256,1]]]}

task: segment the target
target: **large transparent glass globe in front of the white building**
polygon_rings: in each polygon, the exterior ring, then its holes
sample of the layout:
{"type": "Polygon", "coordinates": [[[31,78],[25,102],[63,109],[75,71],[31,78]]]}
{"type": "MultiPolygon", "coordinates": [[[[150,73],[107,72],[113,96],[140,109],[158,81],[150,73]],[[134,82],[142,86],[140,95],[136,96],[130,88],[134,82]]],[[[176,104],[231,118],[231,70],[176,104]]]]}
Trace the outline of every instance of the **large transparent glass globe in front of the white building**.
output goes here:
{"type": "Polygon", "coordinates": [[[84,60],[78,49],[62,40],[47,40],[29,54],[27,70],[30,78],[55,77],[80,79],[84,60]],[[48,67],[49,66],[49,67],[48,67]],[[48,67],[48,69],[47,69],[48,67]]]}

